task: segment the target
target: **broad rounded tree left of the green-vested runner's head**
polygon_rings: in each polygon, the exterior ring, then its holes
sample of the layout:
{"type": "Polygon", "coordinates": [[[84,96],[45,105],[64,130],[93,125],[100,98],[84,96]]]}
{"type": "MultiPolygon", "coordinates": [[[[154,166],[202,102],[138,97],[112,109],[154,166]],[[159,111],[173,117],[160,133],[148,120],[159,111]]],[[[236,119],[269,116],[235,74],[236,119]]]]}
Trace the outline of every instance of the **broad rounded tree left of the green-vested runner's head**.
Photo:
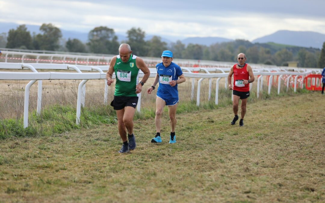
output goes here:
{"type": "Polygon", "coordinates": [[[91,30],[88,34],[87,45],[92,53],[116,54],[119,43],[113,29],[100,26],[91,30]]]}

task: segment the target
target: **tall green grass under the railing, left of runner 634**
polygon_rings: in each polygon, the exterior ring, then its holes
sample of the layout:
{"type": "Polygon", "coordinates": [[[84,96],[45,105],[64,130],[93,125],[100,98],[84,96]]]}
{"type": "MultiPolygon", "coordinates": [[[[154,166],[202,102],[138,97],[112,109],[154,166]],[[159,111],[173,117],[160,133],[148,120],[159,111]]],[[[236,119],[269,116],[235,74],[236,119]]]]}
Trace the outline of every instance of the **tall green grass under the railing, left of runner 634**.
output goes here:
{"type": "Polygon", "coordinates": [[[116,114],[112,108],[104,105],[96,108],[82,108],[80,125],[76,125],[75,107],[53,105],[43,109],[41,115],[33,111],[28,121],[28,127],[24,129],[23,118],[0,120],[0,139],[51,136],[73,129],[94,128],[102,124],[116,123],[116,114]]]}

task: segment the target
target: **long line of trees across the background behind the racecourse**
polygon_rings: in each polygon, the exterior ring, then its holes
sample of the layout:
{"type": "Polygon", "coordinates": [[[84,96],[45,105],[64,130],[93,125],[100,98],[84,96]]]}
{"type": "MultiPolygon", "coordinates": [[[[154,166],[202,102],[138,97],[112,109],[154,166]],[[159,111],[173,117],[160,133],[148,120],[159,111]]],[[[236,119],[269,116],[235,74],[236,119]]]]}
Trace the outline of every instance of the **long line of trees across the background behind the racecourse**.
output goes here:
{"type": "Polygon", "coordinates": [[[32,35],[25,25],[19,25],[17,29],[9,30],[7,35],[0,35],[0,47],[117,54],[120,43],[127,43],[135,55],[144,57],[159,57],[163,50],[169,49],[173,51],[174,58],[234,62],[238,53],[245,53],[248,63],[287,66],[289,61],[297,61],[299,67],[325,67],[325,42],[319,50],[275,43],[253,44],[240,39],[210,46],[185,45],[180,40],[167,44],[159,36],[153,36],[146,41],[146,33],[140,28],[131,28],[126,35],[127,40],[119,42],[113,29],[99,26],[88,33],[88,40],[83,43],[76,38],[69,38],[67,41],[62,39],[60,29],[51,23],[44,23],[40,27],[40,33],[32,35]]]}

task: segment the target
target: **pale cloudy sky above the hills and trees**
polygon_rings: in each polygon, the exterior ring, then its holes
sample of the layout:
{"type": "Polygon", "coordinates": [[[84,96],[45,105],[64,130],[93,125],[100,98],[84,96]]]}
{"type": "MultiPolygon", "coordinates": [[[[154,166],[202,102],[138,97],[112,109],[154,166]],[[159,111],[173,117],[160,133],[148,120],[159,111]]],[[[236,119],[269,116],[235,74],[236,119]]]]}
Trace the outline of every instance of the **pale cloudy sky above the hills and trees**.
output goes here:
{"type": "Polygon", "coordinates": [[[325,0],[0,0],[0,22],[89,32],[132,27],[175,41],[186,37],[254,40],[278,30],[325,34],[325,0]]]}

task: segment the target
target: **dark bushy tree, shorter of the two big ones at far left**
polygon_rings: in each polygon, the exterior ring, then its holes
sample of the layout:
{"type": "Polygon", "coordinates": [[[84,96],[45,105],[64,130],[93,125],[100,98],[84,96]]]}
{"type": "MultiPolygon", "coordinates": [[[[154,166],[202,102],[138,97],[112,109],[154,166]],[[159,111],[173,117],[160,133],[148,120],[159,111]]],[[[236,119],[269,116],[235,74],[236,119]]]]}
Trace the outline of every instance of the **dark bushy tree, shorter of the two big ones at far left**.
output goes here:
{"type": "Polygon", "coordinates": [[[6,48],[34,48],[31,33],[25,25],[19,25],[16,30],[9,30],[6,48]]]}

